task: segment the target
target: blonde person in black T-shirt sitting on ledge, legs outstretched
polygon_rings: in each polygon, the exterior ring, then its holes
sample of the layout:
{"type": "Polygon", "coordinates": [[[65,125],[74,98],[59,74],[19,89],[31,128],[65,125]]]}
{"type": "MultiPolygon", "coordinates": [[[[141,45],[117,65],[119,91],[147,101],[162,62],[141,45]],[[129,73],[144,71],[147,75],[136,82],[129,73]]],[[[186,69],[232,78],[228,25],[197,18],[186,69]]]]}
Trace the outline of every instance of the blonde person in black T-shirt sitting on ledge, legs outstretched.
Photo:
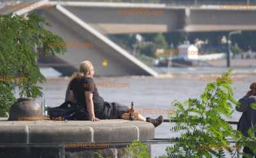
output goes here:
{"type": "MultiPolygon", "coordinates": [[[[129,107],[120,103],[109,103],[99,95],[95,82],[93,65],[90,61],[81,62],[79,72],[72,75],[68,84],[65,101],[78,103],[82,120],[100,121],[100,119],[128,119],[129,107]]],[[[155,127],[163,122],[163,116],[146,119],[140,113],[134,113],[134,120],[147,121],[155,127]]]]}

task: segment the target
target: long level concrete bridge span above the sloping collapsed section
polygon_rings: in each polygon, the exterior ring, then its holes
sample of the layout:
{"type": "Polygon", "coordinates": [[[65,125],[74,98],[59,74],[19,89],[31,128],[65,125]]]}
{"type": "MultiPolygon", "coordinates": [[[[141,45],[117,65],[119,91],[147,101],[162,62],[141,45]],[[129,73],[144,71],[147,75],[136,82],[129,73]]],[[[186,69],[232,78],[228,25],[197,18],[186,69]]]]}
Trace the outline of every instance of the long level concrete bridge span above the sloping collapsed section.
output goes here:
{"type": "Polygon", "coordinates": [[[256,6],[51,2],[107,34],[256,30],[256,6]]]}

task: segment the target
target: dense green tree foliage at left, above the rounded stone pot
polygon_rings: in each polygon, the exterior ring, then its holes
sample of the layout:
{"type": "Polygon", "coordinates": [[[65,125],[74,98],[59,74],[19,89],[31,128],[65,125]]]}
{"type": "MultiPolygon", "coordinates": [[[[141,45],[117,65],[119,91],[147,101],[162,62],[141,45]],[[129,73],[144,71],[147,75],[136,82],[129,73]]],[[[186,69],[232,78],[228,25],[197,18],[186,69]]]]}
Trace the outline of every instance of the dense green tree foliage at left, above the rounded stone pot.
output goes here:
{"type": "Polygon", "coordinates": [[[49,25],[44,18],[36,14],[28,17],[18,15],[0,16],[0,117],[6,117],[17,99],[15,89],[20,97],[40,97],[42,88],[38,82],[45,82],[38,68],[38,54],[63,54],[66,47],[63,40],[44,29],[49,25]],[[59,47],[49,47],[52,43],[59,47]],[[20,80],[22,78],[22,80],[20,80]]]}

